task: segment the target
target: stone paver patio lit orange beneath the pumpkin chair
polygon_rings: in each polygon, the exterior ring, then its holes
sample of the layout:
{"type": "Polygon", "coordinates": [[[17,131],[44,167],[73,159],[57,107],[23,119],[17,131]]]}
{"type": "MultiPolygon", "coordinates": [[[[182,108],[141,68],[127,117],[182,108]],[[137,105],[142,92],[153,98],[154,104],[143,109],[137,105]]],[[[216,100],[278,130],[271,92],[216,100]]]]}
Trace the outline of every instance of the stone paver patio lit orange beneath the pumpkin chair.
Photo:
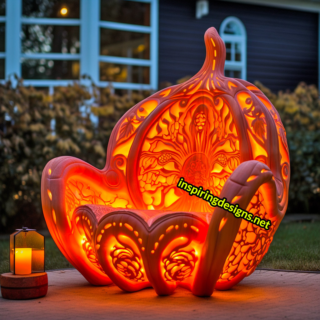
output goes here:
{"type": "Polygon", "coordinates": [[[157,296],[152,288],[95,287],[73,269],[50,271],[48,280],[43,298],[0,298],[1,319],[320,319],[320,273],[256,270],[209,298],[182,288],[157,296]]]}

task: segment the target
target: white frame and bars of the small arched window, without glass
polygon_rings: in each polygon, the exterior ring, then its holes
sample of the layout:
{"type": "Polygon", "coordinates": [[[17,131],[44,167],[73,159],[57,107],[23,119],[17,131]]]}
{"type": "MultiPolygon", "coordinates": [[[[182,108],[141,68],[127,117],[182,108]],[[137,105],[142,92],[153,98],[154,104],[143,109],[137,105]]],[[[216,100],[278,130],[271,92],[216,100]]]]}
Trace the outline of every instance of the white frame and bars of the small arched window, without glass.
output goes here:
{"type": "MultiPolygon", "coordinates": [[[[241,79],[247,80],[247,32],[244,24],[237,17],[229,16],[221,22],[219,34],[224,42],[240,43],[241,45],[241,61],[226,60],[225,70],[241,71],[241,79]],[[224,33],[229,22],[234,22],[239,27],[241,35],[230,35],[224,33]]],[[[231,50],[235,50],[233,46],[231,46],[231,50]]],[[[231,56],[233,55],[231,54],[231,56]]]]}

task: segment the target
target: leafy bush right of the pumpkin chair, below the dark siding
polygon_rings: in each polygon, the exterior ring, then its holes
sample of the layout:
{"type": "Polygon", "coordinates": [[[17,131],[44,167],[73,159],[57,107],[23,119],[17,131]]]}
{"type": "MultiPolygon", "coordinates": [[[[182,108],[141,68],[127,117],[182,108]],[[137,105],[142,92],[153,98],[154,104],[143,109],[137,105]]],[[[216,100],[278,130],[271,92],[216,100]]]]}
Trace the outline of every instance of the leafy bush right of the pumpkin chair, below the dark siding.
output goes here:
{"type": "Polygon", "coordinates": [[[318,213],[320,194],[320,99],[315,85],[272,93],[255,83],[279,112],[287,133],[291,178],[287,212],[318,213]]]}

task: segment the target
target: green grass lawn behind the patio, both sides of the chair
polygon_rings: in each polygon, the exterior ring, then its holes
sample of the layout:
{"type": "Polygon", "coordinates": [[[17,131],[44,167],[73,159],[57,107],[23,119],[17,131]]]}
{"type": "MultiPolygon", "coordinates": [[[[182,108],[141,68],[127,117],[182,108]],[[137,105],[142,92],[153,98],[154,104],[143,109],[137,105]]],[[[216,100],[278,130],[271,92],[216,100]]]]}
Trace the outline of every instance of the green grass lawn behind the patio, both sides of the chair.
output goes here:
{"type": "MultiPolygon", "coordinates": [[[[320,222],[282,223],[259,268],[320,271],[320,222]]],[[[46,270],[72,268],[46,237],[46,270]]],[[[9,272],[9,240],[0,240],[0,273],[9,272]]]]}

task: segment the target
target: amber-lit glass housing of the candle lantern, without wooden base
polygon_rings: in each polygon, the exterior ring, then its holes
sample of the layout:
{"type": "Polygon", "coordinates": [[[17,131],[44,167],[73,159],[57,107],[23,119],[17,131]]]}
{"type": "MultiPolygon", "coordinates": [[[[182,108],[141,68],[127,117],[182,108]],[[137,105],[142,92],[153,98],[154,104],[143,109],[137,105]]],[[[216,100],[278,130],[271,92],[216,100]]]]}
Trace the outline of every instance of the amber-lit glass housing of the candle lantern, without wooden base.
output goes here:
{"type": "Polygon", "coordinates": [[[31,251],[31,273],[44,272],[44,236],[35,230],[22,230],[10,235],[10,271],[18,273],[18,259],[23,248],[26,249],[23,253],[24,255],[31,251]],[[16,254],[15,260],[14,252],[16,254]]]}

